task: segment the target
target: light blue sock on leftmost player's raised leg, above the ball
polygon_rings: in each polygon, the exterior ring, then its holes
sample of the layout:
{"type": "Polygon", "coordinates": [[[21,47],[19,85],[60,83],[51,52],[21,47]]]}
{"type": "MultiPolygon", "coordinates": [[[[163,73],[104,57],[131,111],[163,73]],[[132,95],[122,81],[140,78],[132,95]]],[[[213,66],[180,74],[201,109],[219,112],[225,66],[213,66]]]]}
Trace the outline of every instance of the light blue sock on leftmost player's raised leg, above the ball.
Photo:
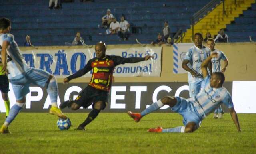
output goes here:
{"type": "Polygon", "coordinates": [[[58,85],[56,82],[55,77],[52,77],[50,82],[47,85],[47,93],[50,96],[52,106],[53,107],[58,107],[57,105],[57,98],[58,98],[58,85]]]}

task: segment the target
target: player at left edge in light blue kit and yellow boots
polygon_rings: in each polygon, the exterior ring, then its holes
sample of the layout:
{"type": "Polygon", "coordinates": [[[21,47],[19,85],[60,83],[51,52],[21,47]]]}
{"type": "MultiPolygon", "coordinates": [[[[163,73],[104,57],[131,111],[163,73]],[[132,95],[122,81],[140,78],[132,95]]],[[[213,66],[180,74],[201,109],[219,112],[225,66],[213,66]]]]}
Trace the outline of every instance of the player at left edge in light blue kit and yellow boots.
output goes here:
{"type": "Polygon", "coordinates": [[[8,117],[0,128],[0,134],[9,133],[8,126],[26,104],[26,94],[29,93],[30,84],[46,87],[52,102],[49,113],[66,119],[67,117],[60,111],[57,105],[58,87],[55,77],[42,69],[35,69],[26,64],[17,43],[14,41],[14,36],[9,34],[10,30],[11,21],[1,18],[0,61],[2,62],[2,69],[0,72],[8,72],[16,103],[10,109],[8,117]]]}

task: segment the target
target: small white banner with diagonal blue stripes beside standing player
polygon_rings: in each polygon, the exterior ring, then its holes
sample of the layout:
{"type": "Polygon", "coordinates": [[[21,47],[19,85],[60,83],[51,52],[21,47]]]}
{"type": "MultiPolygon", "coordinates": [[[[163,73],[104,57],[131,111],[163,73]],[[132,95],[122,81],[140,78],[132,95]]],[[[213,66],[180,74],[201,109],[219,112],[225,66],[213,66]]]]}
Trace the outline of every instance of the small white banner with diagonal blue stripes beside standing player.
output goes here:
{"type": "Polygon", "coordinates": [[[173,44],[173,73],[181,74],[188,73],[182,68],[183,59],[186,53],[194,43],[174,43],[173,44]]]}

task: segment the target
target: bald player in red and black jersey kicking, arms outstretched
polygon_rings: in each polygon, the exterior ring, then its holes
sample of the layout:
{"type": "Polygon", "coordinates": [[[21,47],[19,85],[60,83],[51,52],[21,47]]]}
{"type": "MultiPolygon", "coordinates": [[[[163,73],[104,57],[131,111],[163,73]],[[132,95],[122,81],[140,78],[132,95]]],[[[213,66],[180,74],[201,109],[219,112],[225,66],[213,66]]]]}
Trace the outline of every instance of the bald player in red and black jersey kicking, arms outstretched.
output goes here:
{"type": "Polygon", "coordinates": [[[65,78],[63,83],[81,77],[82,75],[93,70],[92,78],[89,85],[76,97],[76,100],[69,100],[60,104],[60,108],[69,107],[72,110],[78,110],[80,107],[87,108],[92,104],[92,111],[85,121],[80,124],[77,130],[85,130],[85,126],[94,120],[101,110],[104,110],[108,102],[108,92],[110,91],[114,68],[124,63],[138,63],[147,61],[152,56],[147,55],[144,58],[131,57],[123,58],[115,55],[106,55],[106,44],[99,42],[95,45],[96,57],[90,59],[83,69],[75,74],[65,78]]]}

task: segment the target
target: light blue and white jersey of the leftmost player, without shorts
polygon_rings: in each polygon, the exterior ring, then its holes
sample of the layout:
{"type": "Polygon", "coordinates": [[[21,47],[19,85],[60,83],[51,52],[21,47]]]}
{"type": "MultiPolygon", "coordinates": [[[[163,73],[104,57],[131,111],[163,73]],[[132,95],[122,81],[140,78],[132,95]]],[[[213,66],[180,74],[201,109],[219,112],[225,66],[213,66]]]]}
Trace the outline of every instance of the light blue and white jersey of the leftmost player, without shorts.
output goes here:
{"type": "MultiPolygon", "coordinates": [[[[26,64],[24,57],[20,53],[18,45],[14,41],[14,36],[12,34],[0,34],[0,51],[2,51],[4,41],[10,43],[10,46],[7,48],[7,69],[9,72],[8,78],[10,79],[28,71],[30,67],[26,64]]],[[[2,61],[2,59],[0,60],[2,61]]]]}

